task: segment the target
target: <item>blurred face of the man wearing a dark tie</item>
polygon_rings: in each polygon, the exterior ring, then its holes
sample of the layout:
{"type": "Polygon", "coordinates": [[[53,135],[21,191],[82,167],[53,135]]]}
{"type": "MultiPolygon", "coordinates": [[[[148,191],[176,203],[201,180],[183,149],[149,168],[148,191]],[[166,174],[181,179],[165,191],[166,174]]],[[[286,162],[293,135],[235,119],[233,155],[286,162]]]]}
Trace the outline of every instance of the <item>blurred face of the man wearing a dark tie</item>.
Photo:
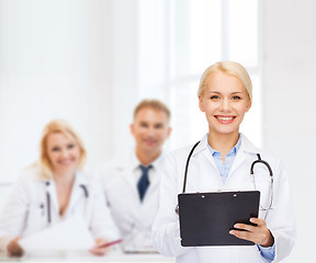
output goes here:
{"type": "Polygon", "coordinates": [[[136,114],[131,125],[131,133],[136,141],[136,149],[143,152],[160,152],[171,128],[163,111],[143,107],[136,114]]]}

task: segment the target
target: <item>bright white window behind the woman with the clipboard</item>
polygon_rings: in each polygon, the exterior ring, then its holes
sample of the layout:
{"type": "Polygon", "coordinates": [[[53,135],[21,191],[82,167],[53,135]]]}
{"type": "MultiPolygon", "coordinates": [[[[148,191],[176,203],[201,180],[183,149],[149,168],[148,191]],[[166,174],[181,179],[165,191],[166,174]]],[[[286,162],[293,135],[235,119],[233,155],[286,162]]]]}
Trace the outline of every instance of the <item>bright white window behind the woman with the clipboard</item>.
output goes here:
{"type": "Polygon", "coordinates": [[[193,144],[207,133],[196,91],[205,68],[219,60],[238,61],[250,75],[253,103],[240,132],[261,146],[258,1],[138,3],[139,96],[156,96],[169,103],[171,149],[193,144]]]}

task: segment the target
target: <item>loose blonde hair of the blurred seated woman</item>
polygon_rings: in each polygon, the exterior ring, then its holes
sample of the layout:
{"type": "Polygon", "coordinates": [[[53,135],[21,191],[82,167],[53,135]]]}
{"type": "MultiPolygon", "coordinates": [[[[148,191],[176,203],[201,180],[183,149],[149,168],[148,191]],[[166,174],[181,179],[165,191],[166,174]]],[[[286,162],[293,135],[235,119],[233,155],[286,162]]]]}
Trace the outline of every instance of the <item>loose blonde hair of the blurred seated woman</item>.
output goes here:
{"type": "Polygon", "coordinates": [[[75,129],[64,119],[54,119],[44,127],[40,142],[40,178],[43,179],[53,178],[53,168],[47,155],[47,138],[48,135],[55,133],[60,133],[66,137],[74,138],[76,140],[80,149],[79,169],[83,168],[87,158],[87,151],[83,142],[75,129]]]}

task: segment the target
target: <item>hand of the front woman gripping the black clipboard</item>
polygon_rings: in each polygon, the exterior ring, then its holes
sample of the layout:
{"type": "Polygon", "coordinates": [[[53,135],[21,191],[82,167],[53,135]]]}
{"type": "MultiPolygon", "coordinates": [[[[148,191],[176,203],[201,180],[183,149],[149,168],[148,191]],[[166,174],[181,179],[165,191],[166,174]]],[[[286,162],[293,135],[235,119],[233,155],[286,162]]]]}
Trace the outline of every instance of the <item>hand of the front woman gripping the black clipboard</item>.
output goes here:
{"type": "Polygon", "coordinates": [[[247,231],[230,230],[229,233],[239,239],[252,241],[253,243],[260,244],[261,247],[272,247],[274,243],[274,238],[270,230],[267,228],[264,219],[250,218],[250,222],[256,224],[257,226],[236,224],[234,228],[247,231]]]}

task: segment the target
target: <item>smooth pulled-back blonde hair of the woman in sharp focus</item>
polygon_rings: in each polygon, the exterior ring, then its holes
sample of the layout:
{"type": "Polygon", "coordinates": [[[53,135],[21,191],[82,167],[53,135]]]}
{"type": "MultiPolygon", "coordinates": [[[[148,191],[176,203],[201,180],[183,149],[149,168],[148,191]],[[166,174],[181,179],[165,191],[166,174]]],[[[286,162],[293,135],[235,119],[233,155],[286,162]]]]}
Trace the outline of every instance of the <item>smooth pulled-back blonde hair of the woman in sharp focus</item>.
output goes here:
{"type": "Polygon", "coordinates": [[[205,88],[206,81],[210,75],[215,73],[215,72],[227,73],[239,79],[241,83],[245,85],[250,101],[252,101],[252,83],[251,83],[250,77],[247,70],[240,64],[235,62],[235,61],[221,61],[206,68],[200,79],[198,96],[204,95],[204,88],[205,88]]]}

